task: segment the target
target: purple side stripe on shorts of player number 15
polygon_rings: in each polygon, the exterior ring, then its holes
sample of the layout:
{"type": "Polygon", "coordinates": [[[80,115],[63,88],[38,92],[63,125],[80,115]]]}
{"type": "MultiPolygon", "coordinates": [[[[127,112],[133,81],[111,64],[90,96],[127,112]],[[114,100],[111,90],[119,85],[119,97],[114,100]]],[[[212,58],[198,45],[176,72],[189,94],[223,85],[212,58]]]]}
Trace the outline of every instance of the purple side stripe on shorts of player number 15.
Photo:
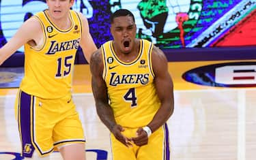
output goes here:
{"type": "MultiPolygon", "coordinates": [[[[23,157],[32,157],[35,148],[31,142],[31,95],[21,92],[20,94],[20,133],[23,143],[23,157]]],[[[31,105],[32,103],[32,105],[31,105]]]]}

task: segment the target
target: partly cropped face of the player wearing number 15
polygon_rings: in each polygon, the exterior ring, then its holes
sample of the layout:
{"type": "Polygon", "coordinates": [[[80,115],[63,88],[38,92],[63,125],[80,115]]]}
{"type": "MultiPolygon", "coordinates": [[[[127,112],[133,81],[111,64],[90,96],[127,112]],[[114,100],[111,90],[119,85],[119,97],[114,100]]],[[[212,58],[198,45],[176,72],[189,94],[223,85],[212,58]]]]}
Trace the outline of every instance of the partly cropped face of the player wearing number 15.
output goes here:
{"type": "Polygon", "coordinates": [[[68,15],[74,0],[46,0],[49,14],[52,18],[60,19],[68,15]]]}

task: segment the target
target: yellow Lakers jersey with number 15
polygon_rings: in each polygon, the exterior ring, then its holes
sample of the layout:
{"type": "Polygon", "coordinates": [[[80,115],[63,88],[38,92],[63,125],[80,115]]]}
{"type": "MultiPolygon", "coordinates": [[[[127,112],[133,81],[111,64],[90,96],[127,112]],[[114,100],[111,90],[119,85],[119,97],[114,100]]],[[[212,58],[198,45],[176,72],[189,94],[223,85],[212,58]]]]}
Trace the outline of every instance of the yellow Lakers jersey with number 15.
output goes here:
{"type": "Polygon", "coordinates": [[[70,10],[72,25],[61,30],[51,22],[46,10],[35,14],[44,32],[44,45],[35,48],[25,44],[25,76],[20,89],[45,99],[71,93],[72,71],[79,48],[82,25],[79,14],[70,10]]]}

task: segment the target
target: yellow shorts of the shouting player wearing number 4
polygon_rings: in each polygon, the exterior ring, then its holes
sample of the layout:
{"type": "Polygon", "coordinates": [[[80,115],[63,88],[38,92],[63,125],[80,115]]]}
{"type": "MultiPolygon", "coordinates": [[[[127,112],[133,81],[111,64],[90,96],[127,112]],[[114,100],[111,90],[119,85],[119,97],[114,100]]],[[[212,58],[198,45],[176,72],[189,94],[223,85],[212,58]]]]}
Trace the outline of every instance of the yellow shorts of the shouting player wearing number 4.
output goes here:
{"type": "MultiPolygon", "coordinates": [[[[123,134],[128,137],[136,136],[137,128],[125,128],[123,134]]],[[[111,133],[111,149],[113,160],[169,160],[169,131],[167,124],[154,131],[145,146],[127,147],[111,133]]]]}

